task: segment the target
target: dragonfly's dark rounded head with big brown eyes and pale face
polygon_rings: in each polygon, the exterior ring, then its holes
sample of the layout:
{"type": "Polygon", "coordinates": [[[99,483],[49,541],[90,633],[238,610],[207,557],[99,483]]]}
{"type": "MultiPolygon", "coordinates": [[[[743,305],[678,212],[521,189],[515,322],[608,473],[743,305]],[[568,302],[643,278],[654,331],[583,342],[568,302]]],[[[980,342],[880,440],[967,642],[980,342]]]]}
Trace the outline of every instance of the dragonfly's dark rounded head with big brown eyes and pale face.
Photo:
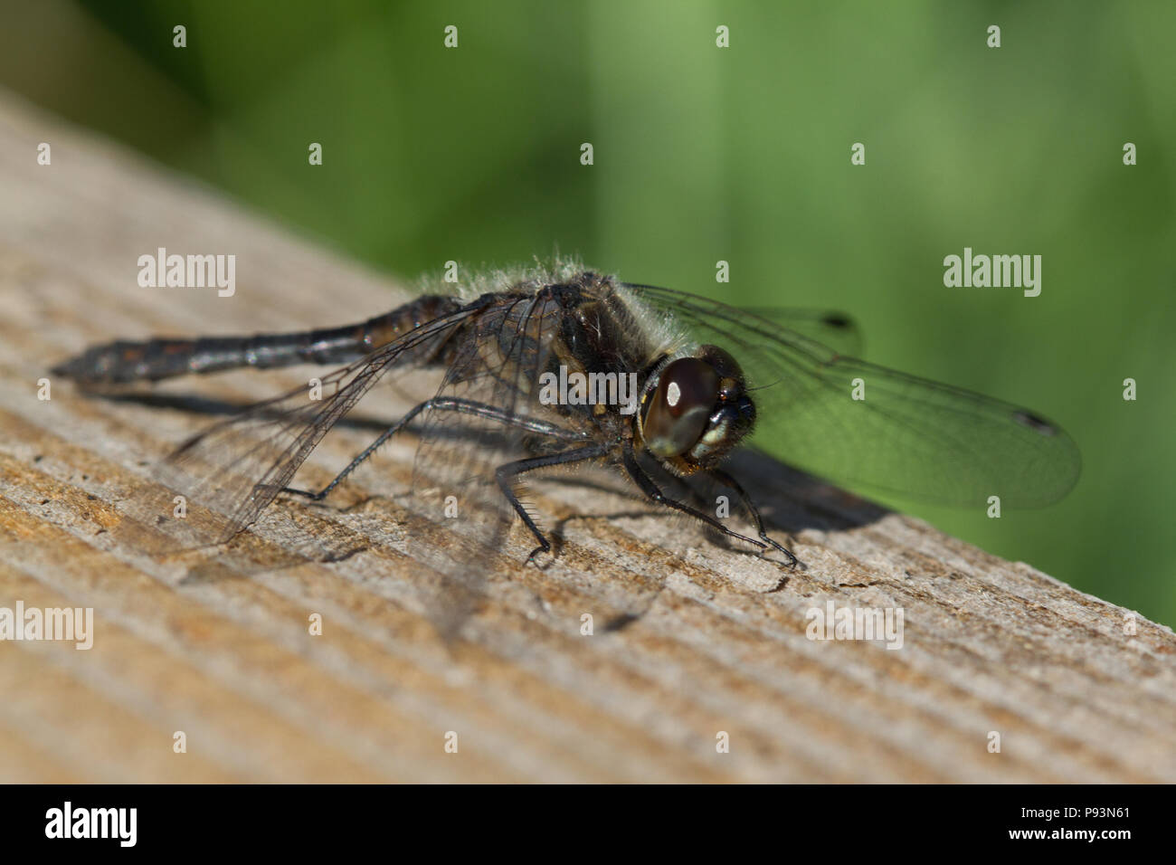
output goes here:
{"type": "Polygon", "coordinates": [[[650,377],[637,415],[648,451],[683,474],[719,465],[755,425],[755,404],[730,354],[704,345],[650,377]]]}

